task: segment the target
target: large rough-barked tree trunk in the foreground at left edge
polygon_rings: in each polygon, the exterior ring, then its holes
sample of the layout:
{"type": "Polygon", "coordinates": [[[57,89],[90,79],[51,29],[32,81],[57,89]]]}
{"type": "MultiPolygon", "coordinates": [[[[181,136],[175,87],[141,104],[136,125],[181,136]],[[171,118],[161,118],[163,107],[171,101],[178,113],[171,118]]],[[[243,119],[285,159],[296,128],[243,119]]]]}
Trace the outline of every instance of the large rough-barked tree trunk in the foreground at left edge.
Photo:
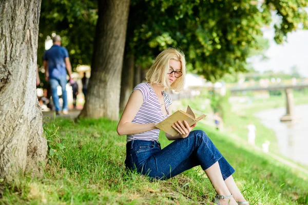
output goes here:
{"type": "Polygon", "coordinates": [[[47,141],[38,104],[36,52],[41,0],[0,4],[0,178],[42,174],[47,141]]]}

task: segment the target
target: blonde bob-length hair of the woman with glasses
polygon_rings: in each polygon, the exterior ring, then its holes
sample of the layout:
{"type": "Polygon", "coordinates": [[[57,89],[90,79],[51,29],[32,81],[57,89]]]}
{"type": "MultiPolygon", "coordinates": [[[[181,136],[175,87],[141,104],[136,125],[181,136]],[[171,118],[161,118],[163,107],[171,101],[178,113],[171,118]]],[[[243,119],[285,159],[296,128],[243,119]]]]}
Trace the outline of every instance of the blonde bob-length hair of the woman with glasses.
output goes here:
{"type": "Polygon", "coordinates": [[[184,53],[175,49],[168,48],[162,51],[154,60],[150,70],[146,73],[146,79],[151,84],[158,84],[164,86],[167,89],[180,91],[183,89],[185,84],[185,74],[186,74],[186,62],[184,53]],[[169,60],[174,59],[180,61],[181,72],[183,75],[176,78],[174,83],[170,85],[169,80],[166,78],[166,74],[169,70],[169,60]]]}

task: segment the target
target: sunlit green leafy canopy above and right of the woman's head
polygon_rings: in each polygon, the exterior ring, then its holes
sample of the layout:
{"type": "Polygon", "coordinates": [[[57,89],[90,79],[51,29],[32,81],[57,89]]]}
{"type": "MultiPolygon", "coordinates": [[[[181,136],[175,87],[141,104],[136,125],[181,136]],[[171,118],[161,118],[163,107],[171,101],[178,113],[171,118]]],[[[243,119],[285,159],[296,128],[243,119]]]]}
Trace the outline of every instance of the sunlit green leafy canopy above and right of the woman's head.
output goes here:
{"type": "Polygon", "coordinates": [[[187,68],[215,80],[225,73],[246,71],[246,58],[263,49],[261,28],[269,25],[272,11],[277,43],[300,24],[308,26],[306,1],[132,1],[127,42],[136,64],[150,60],[167,47],[180,47],[187,68]]]}

